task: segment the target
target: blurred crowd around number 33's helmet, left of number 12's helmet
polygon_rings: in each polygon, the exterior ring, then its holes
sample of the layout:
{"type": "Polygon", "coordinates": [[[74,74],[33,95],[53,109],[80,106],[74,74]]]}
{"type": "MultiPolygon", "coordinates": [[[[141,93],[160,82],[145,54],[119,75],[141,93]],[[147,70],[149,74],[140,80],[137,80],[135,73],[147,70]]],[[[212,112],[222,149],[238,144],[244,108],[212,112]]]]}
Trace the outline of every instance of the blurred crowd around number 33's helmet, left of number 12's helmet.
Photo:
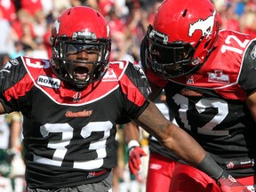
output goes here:
{"type": "Polygon", "coordinates": [[[112,33],[112,60],[140,60],[140,41],[162,1],[1,0],[1,63],[20,55],[51,58],[51,26],[66,8],[87,5],[100,11],[112,33]]]}

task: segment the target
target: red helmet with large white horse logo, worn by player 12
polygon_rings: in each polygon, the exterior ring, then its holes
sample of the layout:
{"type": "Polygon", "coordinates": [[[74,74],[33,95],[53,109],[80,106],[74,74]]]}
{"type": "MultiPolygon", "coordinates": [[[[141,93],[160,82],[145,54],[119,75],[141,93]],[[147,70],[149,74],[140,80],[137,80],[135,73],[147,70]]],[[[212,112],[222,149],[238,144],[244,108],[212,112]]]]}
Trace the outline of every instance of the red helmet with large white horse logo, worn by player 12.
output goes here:
{"type": "Polygon", "coordinates": [[[165,0],[147,30],[146,63],[157,76],[185,76],[202,66],[219,32],[210,0],[165,0]]]}

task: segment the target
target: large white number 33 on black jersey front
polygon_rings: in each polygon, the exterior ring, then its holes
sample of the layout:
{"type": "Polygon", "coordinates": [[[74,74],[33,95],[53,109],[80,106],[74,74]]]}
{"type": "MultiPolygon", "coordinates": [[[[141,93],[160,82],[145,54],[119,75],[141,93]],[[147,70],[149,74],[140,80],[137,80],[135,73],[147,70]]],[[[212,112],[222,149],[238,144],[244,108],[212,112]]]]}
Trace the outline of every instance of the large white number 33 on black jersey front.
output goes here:
{"type": "MultiPolygon", "coordinates": [[[[86,139],[90,137],[92,132],[104,132],[103,138],[100,140],[94,140],[90,143],[89,149],[96,150],[97,158],[91,161],[80,161],[74,162],[73,167],[93,170],[100,168],[103,164],[104,157],[107,156],[106,142],[110,136],[110,130],[113,124],[109,121],[107,122],[91,122],[82,128],[80,132],[81,136],[86,139]]],[[[70,140],[73,138],[74,128],[69,124],[44,124],[40,127],[40,132],[43,137],[49,135],[50,132],[56,132],[61,134],[61,140],[50,141],[47,145],[48,148],[55,149],[52,159],[45,158],[43,156],[34,155],[34,162],[40,164],[50,164],[55,166],[61,166],[63,159],[67,154],[67,146],[70,144],[70,140]]]]}

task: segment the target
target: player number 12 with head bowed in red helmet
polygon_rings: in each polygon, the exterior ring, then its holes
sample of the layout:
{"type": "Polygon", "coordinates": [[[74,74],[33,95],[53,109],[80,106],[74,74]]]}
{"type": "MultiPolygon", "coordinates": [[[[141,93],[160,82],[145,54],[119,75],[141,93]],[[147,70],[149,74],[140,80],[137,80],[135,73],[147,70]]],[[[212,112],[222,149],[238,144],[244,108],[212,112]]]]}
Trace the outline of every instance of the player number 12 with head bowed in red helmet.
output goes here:
{"type": "MultiPolygon", "coordinates": [[[[236,180],[254,191],[256,158],[256,38],[219,30],[209,0],[166,0],[141,43],[151,100],[164,89],[176,122],[236,180]]],[[[170,191],[220,191],[186,164],[170,191]]],[[[163,191],[163,190],[161,190],[163,191]]]]}

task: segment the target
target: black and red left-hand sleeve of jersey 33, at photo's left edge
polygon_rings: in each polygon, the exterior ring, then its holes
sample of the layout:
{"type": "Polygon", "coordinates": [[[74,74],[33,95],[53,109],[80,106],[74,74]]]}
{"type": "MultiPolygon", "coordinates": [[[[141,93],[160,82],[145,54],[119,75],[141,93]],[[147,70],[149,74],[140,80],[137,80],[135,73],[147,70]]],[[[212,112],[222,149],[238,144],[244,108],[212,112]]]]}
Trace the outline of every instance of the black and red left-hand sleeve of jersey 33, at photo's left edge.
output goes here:
{"type": "Polygon", "coordinates": [[[21,58],[9,60],[0,71],[0,102],[7,113],[19,111],[21,108],[18,98],[25,95],[26,88],[20,84],[20,80],[26,74],[21,58]]]}

